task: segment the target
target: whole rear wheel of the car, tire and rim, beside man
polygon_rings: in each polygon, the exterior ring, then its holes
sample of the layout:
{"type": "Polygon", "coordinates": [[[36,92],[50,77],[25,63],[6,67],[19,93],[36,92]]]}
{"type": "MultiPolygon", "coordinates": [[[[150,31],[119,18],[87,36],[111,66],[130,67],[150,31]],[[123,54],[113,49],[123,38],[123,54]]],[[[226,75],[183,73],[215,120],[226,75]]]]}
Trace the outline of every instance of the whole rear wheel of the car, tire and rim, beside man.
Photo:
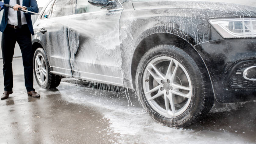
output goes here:
{"type": "Polygon", "coordinates": [[[42,48],[37,48],[34,53],[33,69],[37,84],[40,87],[50,90],[59,86],[61,77],[50,72],[49,61],[42,48]]]}

